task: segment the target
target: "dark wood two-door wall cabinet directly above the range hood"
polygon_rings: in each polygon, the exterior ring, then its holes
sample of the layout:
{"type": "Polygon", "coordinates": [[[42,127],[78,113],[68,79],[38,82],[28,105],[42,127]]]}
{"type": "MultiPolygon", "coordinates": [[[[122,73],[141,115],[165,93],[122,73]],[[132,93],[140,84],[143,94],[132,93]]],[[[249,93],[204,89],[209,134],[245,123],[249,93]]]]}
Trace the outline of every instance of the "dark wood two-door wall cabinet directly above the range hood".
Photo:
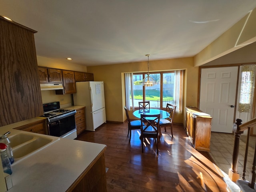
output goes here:
{"type": "Polygon", "coordinates": [[[40,83],[62,83],[62,71],[60,69],[38,67],[40,83]]]}

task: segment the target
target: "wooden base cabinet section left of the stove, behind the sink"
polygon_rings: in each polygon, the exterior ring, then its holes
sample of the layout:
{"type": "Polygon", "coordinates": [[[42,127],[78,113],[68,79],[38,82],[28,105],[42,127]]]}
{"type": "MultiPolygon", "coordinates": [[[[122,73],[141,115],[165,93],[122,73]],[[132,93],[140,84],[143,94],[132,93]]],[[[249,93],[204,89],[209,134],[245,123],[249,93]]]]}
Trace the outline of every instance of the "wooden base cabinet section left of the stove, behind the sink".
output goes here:
{"type": "Polygon", "coordinates": [[[26,125],[23,125],[20,127],[16,127],[14,129],[33,132],[33,133],[46,134],[46,121],[45,121],[45,119],[42,119],[37,122],[33,122],[33,123],[26,124],[26,125]]]}

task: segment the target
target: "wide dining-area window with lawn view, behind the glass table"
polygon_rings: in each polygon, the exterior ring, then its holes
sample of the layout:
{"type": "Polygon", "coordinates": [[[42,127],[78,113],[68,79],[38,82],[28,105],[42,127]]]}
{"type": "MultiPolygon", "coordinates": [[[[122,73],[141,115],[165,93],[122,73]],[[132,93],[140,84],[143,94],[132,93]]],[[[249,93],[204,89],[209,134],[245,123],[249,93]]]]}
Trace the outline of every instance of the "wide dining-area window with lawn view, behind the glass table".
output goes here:
{"type": "Polygon", "coordinates": [[[139,101],[150,101],[150,108],[165,108],[167,103],[174,104],[177,111],[182,110],[182,86],[183,71],[156,72],[150,76],[157,82],[152,87],[142,86],[141,82],[146,73],[132,74],[132,87],[126,85],[126,92],[129,100],[126,99],[126,106],[138,107],[139,101]],[[133,97],[132,97],[133,92],[133,97]],[[130,102],[127,104],[127,102],[130,102]]]}

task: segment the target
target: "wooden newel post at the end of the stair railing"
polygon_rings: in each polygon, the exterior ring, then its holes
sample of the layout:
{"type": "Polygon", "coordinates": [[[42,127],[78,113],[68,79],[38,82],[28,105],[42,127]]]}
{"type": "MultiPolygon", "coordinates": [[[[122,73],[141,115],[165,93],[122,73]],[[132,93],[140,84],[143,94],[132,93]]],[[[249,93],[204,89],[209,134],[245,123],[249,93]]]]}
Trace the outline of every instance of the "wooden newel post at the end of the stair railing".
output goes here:
{"type": "Polygon", "coordinates": [[[232,165],[228,171],[228,176],[233,182],[236,182],[240,178],[240,174],[238,173],[239,143],[240,143],[241,134],[244,133],[244,131],[239,131],[239,126],[241,124],[242,124],[242,120],[236,119],[236,123],[234,123],[234,126],[233,126],[235,141],[234,141],[232,165]]]}

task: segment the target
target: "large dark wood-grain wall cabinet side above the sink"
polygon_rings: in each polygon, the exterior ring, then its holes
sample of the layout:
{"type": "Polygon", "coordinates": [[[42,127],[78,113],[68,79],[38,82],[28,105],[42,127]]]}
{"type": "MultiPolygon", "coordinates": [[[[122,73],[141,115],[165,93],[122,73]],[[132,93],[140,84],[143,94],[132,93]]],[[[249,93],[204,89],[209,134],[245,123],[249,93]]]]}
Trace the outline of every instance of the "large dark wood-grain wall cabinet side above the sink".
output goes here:
{"type": "Polygon", "coordinates": [[[0,127],[44,113],[34,33],[0,16],[0,127]]]}

